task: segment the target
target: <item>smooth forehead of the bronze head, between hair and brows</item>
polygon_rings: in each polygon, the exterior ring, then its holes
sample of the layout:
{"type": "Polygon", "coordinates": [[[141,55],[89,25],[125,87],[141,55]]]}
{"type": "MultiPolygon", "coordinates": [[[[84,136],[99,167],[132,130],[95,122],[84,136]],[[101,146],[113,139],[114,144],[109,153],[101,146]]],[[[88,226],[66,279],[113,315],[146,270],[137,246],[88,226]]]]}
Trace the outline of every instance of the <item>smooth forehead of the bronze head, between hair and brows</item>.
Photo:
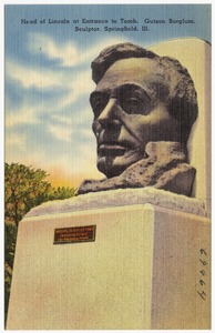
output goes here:
{"type": "Polygon", "coordinates": [[[125,83],[135,83],[143,88],[152,83],[164,84],[162,67],[152,59],[129,58],[114,62],[104,73],[95,90],[112,90],[125,83]]]}

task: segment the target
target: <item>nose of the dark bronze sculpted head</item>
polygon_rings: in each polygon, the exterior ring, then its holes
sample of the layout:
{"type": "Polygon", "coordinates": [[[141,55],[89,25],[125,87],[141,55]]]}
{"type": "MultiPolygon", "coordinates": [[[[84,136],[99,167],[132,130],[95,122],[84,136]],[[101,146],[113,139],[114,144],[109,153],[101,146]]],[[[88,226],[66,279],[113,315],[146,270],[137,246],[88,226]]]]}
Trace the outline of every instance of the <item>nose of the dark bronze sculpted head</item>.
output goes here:
{"type": "Polygon", "coordinates": [[[116,110],[116,99],[110,99],[109,103],[104,108],[104,110],[100,113],[98,118],[99,123],[102,127],[109,127],[111,124],[120,124],[120,121],[115,118],[115,110],[116,110]]]}

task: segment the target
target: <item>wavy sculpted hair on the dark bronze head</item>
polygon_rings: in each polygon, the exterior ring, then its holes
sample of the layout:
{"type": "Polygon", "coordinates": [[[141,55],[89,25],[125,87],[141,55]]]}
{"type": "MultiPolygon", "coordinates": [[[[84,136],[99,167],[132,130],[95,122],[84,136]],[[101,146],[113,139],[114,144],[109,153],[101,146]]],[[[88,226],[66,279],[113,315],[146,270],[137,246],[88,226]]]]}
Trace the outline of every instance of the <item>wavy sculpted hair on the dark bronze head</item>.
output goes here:
{"type": "MultiPolygon", "coordinates": [[[[197,118],[197,93],[194,82],[178,60],[171,57],[160,57],[156,53],[132,43],[119,43],[104,49],[92,63],[92,79],[98,84],[106,70],[117,60],[129,58],[147,58],[157,62],[163,69],[165,81],[168,82],[168,112],[181,124],[181,142],[186,144],[194,121],[197,118]]],[[[157,94],[162,94],[157,87],[157,94]]]]}

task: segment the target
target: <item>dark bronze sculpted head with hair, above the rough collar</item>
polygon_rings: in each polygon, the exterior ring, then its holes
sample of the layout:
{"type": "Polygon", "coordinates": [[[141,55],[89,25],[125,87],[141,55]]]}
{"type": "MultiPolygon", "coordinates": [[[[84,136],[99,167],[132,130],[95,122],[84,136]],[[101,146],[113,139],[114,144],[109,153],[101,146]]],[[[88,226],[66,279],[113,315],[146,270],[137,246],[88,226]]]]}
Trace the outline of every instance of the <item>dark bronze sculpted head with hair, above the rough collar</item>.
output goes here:
{"type": "Polygon", "coordinates": [[[103,50],[92,62],[98,169],[108,178],[144,159],[150,141],[176,141],[184,149],[197,118],[192,78],[168,57],[131,43],[103,50]]]}

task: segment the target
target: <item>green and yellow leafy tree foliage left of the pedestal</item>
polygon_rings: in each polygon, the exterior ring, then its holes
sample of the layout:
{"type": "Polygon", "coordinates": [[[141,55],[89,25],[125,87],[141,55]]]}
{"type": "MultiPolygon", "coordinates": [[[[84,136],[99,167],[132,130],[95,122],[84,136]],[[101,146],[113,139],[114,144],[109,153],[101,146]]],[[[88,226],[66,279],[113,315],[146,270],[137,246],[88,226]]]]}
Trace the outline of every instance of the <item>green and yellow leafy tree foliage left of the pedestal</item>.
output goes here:
{"type": "Polygon", "coordinates": [[[7,320],[19,222],[33,208],[50,200],[74,196],[74,188],[52,188],[47,172],[19,163],[4,170],[4,320],[7,320]]]}

